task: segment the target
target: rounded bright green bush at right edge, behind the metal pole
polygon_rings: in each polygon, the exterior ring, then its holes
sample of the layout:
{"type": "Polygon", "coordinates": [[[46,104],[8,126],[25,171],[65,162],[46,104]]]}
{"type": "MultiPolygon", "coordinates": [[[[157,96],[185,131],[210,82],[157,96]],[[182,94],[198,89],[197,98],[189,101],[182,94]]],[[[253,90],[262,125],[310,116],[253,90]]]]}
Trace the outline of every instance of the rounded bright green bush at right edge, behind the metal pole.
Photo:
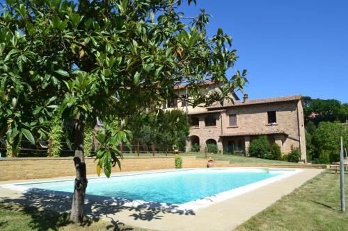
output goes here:
{"type": "Polygon", "coordinates": [[[319,157],[322,150],[330,155],[331,162],[338,162],[340,160],[340,137],[343,137],[343,146],[348,146],[348,130],[345,126],[335,122],[321,122],[319,123],[313,143],[315,145],[315,157],[319,157]]]}

